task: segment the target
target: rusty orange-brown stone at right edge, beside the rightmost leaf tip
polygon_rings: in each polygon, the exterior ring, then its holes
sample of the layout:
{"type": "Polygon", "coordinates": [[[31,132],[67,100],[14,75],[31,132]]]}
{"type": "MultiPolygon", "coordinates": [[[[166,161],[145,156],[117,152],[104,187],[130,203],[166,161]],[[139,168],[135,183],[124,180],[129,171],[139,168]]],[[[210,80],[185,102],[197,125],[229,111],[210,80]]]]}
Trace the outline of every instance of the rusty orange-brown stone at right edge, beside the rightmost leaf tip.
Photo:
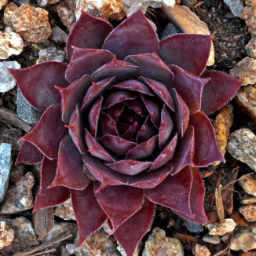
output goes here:
{"type": "Polygon", "coordinates": [[[256,86],[244,86],[236,93],[236,102],[256,120],[256,86]]]}

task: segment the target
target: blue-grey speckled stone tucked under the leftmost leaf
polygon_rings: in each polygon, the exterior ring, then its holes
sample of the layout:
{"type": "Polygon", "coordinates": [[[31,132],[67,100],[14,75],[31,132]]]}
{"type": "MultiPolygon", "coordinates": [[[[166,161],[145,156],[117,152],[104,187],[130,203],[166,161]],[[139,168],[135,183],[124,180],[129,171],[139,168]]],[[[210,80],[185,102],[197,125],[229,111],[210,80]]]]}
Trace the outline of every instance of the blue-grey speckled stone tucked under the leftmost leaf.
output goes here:
{"type": "Polygon", "coordinates": [[[20,90],[18,90],[17,93],[17,114],[20,119],[24,120],[24,122],[29,124],[35,124],[38,123],[38,120],[40,119],[42,112],[38,112],[35,108],[31,106],[27,102],[27,100],[24,98],[20,90]]]}

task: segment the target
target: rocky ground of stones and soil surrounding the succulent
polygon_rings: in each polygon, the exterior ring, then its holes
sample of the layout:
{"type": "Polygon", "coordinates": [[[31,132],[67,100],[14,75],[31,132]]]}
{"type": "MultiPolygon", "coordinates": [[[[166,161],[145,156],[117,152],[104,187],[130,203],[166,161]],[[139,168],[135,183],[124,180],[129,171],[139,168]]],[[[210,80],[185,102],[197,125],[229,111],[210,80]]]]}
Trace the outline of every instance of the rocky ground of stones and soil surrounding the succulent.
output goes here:
{"type": "MultiPolygon", "coordinates": [[[[5,68],[66,61],[68,33],[81,9],[112,20],[115,26],[141,1],[104,0],[97,8],[93,2],[97,1],[0,0],[0,255],[125,255],[115,239],[108,237],[108,225],[78,248],[69,200],[32,214],[40,166],[14,164],[18,139],[41,113],[24,100],[5,68]]],[[[243,86],[233,101],[210,116],[226,159],[226,163],[201,168],[205,208],[212,224],[185,221],[157,207],[152,229],[134,256],[255,256],[256,1],[181,0],[173,9],[171,1],[142,2],[160,38],[181,32],[213,35],[208,68],[236,76],[243,86]]]]}

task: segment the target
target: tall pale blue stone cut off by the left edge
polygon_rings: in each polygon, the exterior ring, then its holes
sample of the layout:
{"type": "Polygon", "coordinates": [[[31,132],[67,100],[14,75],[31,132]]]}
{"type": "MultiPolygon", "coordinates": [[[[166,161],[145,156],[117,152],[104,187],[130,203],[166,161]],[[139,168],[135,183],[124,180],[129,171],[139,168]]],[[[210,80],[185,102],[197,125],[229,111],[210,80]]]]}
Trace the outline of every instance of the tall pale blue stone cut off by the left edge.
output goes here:
{"type": "Polygon", "coordinates": [[[0,202],[4,199],[9,185],[9,172],[13,163],[11,151],[11,144],[2,143],[0,145],[0,202]]]}

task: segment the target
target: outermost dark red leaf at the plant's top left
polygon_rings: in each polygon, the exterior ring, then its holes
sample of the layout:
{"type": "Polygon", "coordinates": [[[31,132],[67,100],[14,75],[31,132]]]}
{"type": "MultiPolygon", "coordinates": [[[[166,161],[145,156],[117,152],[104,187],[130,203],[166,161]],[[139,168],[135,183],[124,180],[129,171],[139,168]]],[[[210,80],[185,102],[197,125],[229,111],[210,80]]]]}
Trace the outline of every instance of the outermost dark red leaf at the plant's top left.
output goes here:
{"type": "Polygon", "coordinates": [[[73,53],[72,46],[101,49],[105,38],[111,31],[112,25],[107,21],[97,19],[82,10],[79,20],[76,21],[68,36],[68,57],[70,58],[73,53]]]}

